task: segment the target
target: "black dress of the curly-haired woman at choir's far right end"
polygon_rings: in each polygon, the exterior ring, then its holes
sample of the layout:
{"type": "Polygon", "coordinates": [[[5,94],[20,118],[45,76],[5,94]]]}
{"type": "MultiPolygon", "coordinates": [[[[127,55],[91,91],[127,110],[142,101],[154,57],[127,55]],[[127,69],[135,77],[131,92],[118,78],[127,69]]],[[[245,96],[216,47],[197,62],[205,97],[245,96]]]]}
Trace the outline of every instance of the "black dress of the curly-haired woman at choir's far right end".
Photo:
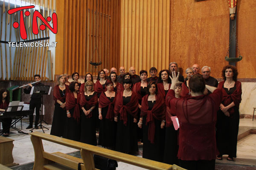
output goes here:
{"type": "MultiPolygon", "coordinates": [[[[236,86],[230,88],[224,88],[228,95],[233,94],[236,90],[236,86]]],[[[216,142],[217,148],[220,155],[229,155],[229,157],[236,158],[236,145],[237,136],[239,130],[239,109],[234,106],[234,113],[230,116],[225,116],[225,114],[219,110],[217,112],[217,123],[216,123],[216,142]]]]}

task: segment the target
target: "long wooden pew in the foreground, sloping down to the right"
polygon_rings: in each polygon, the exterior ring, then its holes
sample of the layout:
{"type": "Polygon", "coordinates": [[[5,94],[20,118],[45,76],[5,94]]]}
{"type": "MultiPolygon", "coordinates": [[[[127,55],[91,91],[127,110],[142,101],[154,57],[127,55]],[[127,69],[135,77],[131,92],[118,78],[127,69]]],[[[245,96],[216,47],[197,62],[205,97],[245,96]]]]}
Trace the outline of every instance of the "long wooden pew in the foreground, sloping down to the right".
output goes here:
{"type": "Polygon", "coordinates": [[[102,147],[60,138],[58,136],[52,136],[46,133],[33,132],[30,133],[30,135],[35,151],[35,163],[33,170],[77,170],[79,162],[82,163],[81,170],[96,170],[94,166],[93,154],[114,159],[116,161],[122,161],[149,170],[172,170],[172,165],[170,164],[164,164],[125,153],[116,152],[102,147]],[[60,152],[45,152],[42,139],[78,149],[81,151],[82,159],[60,152]]]}

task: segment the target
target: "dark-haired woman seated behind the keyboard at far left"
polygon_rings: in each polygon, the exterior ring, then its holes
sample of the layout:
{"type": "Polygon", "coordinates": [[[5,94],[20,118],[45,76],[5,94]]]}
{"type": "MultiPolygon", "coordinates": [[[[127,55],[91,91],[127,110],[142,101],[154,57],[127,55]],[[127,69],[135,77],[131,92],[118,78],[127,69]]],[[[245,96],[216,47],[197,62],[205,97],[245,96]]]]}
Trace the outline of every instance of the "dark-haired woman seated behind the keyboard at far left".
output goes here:
{"type": "MultiPolygon", "coordinates": [[[[3,112],[9,106],[9,102],[10,102],[9,91],[6,90],[6,89],[2,89],[0,91],[0,97],[1,97],[1,100],[0,100],[0,112],[3,112]]],[[[12,123],[12,118],[4,118],[2,120],[3,120],[3,122],[5,122],[5,123],[2,123],[3,129],[6,129],[6,128],[10,127],[10,125],[12,123]]],[[[3,132],[3,136],[9,136],[9,134],[10,134],[10,128],[8,128],[5,132],[3,132]]]]}

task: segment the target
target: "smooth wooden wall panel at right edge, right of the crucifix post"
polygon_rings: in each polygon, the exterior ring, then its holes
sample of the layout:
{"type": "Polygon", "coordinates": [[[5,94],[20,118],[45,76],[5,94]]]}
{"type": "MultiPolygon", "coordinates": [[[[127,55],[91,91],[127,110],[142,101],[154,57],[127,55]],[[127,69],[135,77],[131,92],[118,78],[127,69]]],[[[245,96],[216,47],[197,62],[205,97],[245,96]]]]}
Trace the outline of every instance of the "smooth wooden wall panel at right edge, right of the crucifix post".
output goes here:
{"type": "MultiPolygon", "coordinates": [[[[237,36],[243,59],[237,63],[239,78],[256,78],[256,1],[238,1],[237,36]]],[[[237,54],[238,56],[238,54],[237,54]]]]}

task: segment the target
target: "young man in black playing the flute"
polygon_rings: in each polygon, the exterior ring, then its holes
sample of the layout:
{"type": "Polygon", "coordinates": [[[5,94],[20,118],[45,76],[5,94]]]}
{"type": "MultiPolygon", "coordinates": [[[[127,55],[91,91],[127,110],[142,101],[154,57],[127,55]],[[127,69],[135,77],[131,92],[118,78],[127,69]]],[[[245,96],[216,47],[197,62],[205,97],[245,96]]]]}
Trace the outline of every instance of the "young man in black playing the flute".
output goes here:
{"type": "MultiPolygon", "coordinates": [[[[34,75],[35,81],[41,80],[41,76],[39,74],[34,75]]],[[[38,86],[38,85],[44,85],[41,82],[37,82],[35,84],[29,83],[29,88],[26,89],[26,86],[24,88],[25,94],[30,94],[30,91],[32,89],[32,86],[38,86]]],[[[41,94],[32,94],[31,100],[29,102],[29,110],[35,110],[35,129],[38,129],[38,121],[40,116],[40,108],[41,108],[41,94]]],[[[33,127],[33,115],[29,116],[29,126],[26,129],[30,129],[33,127]]]]}

